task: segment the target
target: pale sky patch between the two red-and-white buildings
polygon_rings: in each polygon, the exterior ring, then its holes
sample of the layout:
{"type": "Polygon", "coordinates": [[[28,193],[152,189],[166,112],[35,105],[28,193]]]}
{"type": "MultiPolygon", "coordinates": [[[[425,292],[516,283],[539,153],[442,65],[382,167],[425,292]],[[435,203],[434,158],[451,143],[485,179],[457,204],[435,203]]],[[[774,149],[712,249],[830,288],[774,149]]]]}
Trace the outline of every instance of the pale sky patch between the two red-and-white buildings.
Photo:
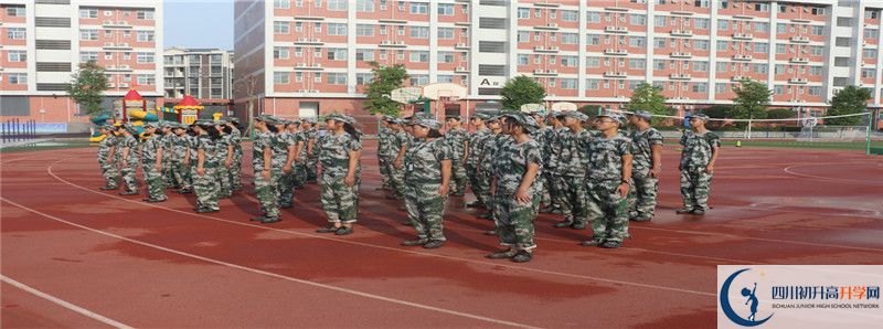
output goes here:
{"type": "Polygon", "coordinates": [[[233,50],[233,0],[163,0],[164,46],[233,50]]]}

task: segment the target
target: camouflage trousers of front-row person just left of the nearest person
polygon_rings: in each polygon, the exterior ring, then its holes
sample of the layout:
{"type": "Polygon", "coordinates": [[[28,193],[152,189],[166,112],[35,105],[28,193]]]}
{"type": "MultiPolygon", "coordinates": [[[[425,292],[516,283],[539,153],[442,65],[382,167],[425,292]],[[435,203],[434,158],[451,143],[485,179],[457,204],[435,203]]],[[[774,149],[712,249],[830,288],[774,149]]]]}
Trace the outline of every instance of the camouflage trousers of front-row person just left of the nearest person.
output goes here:
{"type": "Polygon", "coordinates": [[[444,214],[447,195],[439,195],[442,183],[405,181],[405,210],[419,238],[445,241],[444,214]]]}

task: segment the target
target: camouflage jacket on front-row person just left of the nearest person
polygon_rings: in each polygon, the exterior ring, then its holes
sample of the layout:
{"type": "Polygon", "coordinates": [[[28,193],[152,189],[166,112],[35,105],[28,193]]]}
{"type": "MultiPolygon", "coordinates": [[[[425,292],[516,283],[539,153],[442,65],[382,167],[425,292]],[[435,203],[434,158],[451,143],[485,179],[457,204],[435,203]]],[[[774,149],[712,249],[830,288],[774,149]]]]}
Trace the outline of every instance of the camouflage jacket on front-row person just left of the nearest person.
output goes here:
{"type": "Polygon", "coordinates": [[[442,161],[451,160],[450,146],[436,138],[408,148],[405,153],[405,181],[414,184],[442,183],[442,161]]]}

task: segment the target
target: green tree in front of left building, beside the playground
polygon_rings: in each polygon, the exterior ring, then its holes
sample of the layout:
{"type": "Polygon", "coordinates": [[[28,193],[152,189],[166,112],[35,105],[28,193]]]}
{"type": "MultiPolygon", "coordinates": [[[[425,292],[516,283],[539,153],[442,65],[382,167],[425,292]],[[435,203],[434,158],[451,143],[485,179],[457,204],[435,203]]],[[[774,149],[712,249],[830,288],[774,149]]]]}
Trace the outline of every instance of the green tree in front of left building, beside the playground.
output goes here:
{"type": "Polygon", "coordinates": [[[107,76],[104,75],[104,67],[98,66],[95,61],[79,64],[79,71],[72,75],[71,84],[67,86],[67,95],[79,104],[79,109],[89,116],[102,114],[102,95],[107,91],[107,76]]]}

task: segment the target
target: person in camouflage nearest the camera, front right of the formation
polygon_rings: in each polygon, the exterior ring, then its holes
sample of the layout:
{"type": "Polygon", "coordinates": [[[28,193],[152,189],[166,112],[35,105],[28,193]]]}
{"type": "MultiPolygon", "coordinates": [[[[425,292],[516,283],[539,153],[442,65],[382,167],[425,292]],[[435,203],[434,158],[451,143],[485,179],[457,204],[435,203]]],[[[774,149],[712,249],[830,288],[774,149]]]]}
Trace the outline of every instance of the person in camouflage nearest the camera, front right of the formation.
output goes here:
{"type": "Polygon", "coordinates": [[[498,146],[493,156],[491,194],[500,244],[509,248],[489,254],[488,258],[525,263],[533,258],[536,248],[533,222],[542,199],[536,181],[543,161],[542,147],[531,139],[539,125],[522,113],[504,114],[502,118],[509,139],[498,146]]]}

